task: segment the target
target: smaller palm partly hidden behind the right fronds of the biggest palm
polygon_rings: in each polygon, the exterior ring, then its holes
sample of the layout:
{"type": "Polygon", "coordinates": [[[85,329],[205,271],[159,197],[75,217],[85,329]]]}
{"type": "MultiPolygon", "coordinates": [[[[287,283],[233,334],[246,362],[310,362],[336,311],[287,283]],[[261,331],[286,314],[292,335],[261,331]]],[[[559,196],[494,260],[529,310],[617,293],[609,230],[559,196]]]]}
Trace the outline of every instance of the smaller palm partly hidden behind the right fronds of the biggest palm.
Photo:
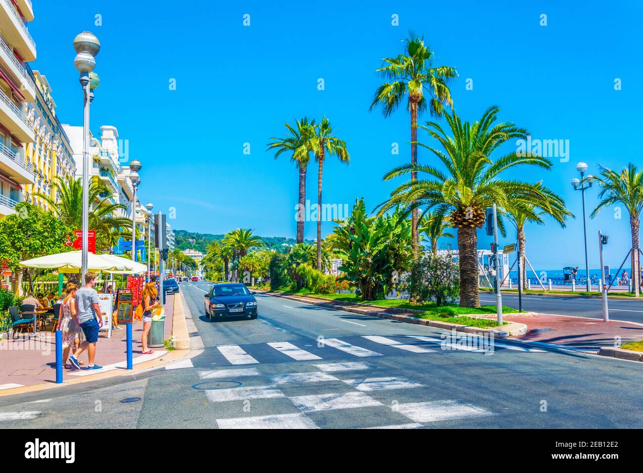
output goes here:
{"type": "Polygon", "coordinates": [[[527,289],[527,267],[525,266],[525,255],[527,247],[527,239],[525,237],[525,224],[537,223],[538,225],[545,225],[543,217],[550,216],[556,220],[561,228],[565,228],[565,221],[567,217],[574,217],[572,212],[565,208],[565,201],[563,198],[543,188],[543,193],[548,196],[549,206],[545,209],[534,209],[533,205],[525,205],[529,208],[530,212],[524,212],[521,207],[516,209],[505,209],[505,215],[516,227],[516,239],[520,243],[520,272],[523,289],[527,289]]]}

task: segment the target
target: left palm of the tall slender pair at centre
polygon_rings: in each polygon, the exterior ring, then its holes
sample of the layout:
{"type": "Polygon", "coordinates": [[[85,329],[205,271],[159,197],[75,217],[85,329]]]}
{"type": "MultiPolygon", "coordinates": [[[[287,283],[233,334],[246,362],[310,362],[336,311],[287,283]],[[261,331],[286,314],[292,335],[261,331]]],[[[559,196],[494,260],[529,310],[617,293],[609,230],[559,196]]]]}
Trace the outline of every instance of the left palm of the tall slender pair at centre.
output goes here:
{"type": "Polygon", "coordinates": [[[299,203],[296,216],[297,243],[303,243],[303,225],[305,221],[303,210],[306,205],[306,171],[311,161],[310,138],[312,134],[314,134],[315,120],[308,122],[308,118],[303,117],[301,120],[294,120],[294,123],[294,127],[284,123],[287,129],[284,138],[270,138],[275,141],[269,143],[267,149],[277,150],[275,159],[282,153],[291,152],[291,162],[293,162],[299,170],[299,203]]]}

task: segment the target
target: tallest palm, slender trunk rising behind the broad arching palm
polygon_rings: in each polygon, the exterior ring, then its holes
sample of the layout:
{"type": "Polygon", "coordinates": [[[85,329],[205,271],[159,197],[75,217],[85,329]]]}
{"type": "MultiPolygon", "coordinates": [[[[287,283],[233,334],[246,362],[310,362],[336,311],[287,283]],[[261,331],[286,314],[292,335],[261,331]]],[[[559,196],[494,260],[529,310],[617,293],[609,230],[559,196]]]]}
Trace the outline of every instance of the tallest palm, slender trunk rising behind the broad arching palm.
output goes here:
{"type": "MultiPolygon", "coordinates": [[[[387,80],[379,86],[370,104],[370,110],[381,107],[388,117],[394,113],[406,97],[406,109],[411,113],[411,164],[417,163],[417,116],[428,108],[431,116],[442,116],[444,107],[453,107],[449,82],[457,76],[451,66],[433,66],[435,53],[424,45],[424,38],[409,32],[404,44],[404,53],[397,57],[382,59],[377,70],[387,80]],[[424,96],[428,93],[430,100],[424,96]]],[[[417,172],[411,172],[411,180],[417,180],[417,172]]],[[[413,253],[419,255],[418,215],[412,211],[413,253]]]]}

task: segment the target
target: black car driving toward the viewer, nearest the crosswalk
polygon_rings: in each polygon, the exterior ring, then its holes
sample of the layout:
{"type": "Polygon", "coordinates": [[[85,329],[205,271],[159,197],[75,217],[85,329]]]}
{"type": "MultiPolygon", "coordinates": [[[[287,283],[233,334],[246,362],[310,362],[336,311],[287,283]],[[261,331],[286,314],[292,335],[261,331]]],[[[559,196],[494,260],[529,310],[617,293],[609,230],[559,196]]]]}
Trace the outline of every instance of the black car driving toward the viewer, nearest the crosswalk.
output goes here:
{"type": "Polygon", "coordinates": [[[244,284],[214,284],[205,295],[205,314],[210,320],[244,315],[257,319],[257,299],[244,284]]]}

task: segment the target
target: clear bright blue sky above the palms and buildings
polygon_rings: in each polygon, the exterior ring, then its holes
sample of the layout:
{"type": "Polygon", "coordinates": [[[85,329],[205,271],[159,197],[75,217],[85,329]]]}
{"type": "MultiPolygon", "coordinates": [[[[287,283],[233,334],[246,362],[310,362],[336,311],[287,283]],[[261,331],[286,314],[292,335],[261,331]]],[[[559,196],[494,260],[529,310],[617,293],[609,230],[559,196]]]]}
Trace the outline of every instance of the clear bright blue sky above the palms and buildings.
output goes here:
{"type": "MultiPolygon", "coordinates": [[[[102,42],[91,129],[114,125],[129,140],[131,158],[143,163],[141,200],[155,210],[176,208],[174,228],[224,233],[249,227],[263,236],[294,237],[297,172],[286,156],[274,160],[266,153],[269,137],[283,133],[283,122],[326,115],[347,142],[351,162],[325,164],[324,201],[352,205],[363,196],[374,208],[397,183],[383,182],[383,174],[410,160],[406,109],[386,119],[368,111],[381,82],[375,70],[382,57],[401,53],[413,30],[436,52],[436,64],[457,67],[451,91],[462,118],[474,121],[498,105],[501,120],[527,128],[534,139],[569,140],[568,162],[553,158],[552,171],[520,169],[510,177],[543,179],[577,215],[565,230],[552,221],[527,227],[532,263],[582,268],[581,196],[569,183],[575,164],[587,162],[590,172],[598,163],[641,164],[643,8],[633,1],[561,3],[34,0],[30,32],[38,59],[32,67],[48,77],[61,122],[82,124],[72,41],[91,30],[102,42]],[[250,26],[243,26],[244,14],[250,26]],[[399,26],[391,24],[394,14],[399,26]],[[540,26],[541,14],[547,26],[540,26]],[[466,90],[467,79],[473,90],[466,90]]],[[[428,141],[422,131],[419,138],[428,141]]],[[[421,150],[419,160],[432,158],[421,150]]],[[[311,201],[316,178],[311,166],[311,201]]],[[[588,207],[596,195],[589,191],[588,207]]],[[[629,218],[624,209],[621,219],[614,216],[610,209],[589,222],[592,267],[599,266],[599,229],[610,234],[607,263],[618,266],[627,251],[629,218]]],[[[331,232],[332,223],[322,230],[331,232]]],[[[307,223],[305,236],[315,234],[314,222],[307,223]]],[[[502,243],[513,240],[511,234],[502,243]]],[[[488,243],[480,234],[479,246],[488,243]]]]}

